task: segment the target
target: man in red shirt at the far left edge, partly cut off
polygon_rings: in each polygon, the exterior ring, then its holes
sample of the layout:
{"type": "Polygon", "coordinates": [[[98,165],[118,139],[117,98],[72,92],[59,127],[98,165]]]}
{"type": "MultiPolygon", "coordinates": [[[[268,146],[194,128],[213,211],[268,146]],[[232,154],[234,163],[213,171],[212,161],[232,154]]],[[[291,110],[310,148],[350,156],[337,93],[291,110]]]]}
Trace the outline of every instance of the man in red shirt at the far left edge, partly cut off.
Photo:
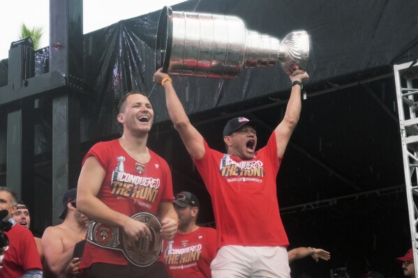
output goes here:
{"type": "Polygon", "coordinates": [[[15,192],[8,187],[0,187],[0,210],[7,210],[8,215],[3,221],[9,222],[11,228],[3,233],[8,238],[8,246],[3,247],[0,278],[33,277],[42,278],[42,264],[35,238],[28,229],[16,225],[12,215],[16,210],[15,192]]]}

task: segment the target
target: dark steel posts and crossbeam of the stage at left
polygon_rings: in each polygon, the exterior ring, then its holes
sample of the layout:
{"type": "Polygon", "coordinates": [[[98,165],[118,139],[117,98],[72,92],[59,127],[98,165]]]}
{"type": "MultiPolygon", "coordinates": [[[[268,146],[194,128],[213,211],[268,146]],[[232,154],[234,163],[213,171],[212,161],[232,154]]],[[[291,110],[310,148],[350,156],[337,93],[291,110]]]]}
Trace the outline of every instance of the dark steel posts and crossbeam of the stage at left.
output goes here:
{"type": "Polygon", "coordinates": [[[62,196],[80,173],[80,98],[88,94],[82,26],[82,0],[51,0],[50,45],[41,49],[49,61],[46,72],[35,74],[33,47],[16,44],[8,53],[7,84],[0,85],[0,109],[7,113],[6,184],[31,213],[46,215],[47,226],[58,224],[62,196]],[[35,192],[33,182],[33,115],[40,100],[52,102],[52,192],[35,192]],[[36,194],[45,200],[36,203],[36,194]],[[45,212],[42,202],[49,198],[52,211],[45,212]]]}

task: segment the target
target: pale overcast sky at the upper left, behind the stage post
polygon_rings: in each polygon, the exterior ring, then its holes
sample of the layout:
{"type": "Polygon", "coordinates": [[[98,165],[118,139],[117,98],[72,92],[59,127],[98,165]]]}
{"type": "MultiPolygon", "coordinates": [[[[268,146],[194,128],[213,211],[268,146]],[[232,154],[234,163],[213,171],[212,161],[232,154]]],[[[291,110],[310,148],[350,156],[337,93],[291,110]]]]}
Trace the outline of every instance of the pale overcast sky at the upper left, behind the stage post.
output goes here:
{"type": "MultiPolygon", "coordinates": [[[[57,1],[57,0],[54,0],[57,1]]],[[[119,20],[161,10],[185,0],[84,0],[83,31],[108,26],[119,20]]],[[[0,0],[0,60],[8,58],[10,43],[19,40],[22,23],[29,28],[43,27],[40,47],[49,44],[50,0],[0,0]]]]}

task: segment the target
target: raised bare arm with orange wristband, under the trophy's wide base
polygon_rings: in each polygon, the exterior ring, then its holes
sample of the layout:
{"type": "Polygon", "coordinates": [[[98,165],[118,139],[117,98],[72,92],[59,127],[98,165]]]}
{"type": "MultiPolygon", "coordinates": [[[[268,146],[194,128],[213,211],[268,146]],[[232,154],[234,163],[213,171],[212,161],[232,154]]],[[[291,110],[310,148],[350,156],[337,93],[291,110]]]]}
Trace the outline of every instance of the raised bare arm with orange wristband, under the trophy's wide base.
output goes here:
{"type": "MultiPolygon", "coordinates": [[[[168,77],[169,75],[162,72],[162,69],[159,69],[154,74],[154,82],[161,85],[163,79],[168,77]]],[[[174,91],[172,82],[164,82],[162,86],[165,90],[165,102],[167,103],[168,114],[174,124],[174,128],[177,132],[179,132],[181,140],[186,146],[188,153],[196,159],[201,158],[204,155],[202,135],[188,120],[186,111],[184,111],[184,107],[181,105],[176,91],[174,91]]]]}

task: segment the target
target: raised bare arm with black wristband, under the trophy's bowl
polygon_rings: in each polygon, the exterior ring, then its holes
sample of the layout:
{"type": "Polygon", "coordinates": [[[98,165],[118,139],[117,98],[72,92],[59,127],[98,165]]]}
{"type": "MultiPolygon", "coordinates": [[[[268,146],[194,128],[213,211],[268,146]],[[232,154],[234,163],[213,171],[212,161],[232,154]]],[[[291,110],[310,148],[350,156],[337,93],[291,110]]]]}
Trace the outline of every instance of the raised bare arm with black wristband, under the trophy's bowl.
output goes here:
{"type": "MultiPolygon", "coordinates": [[[[306,72],[297,70],[294,72],[294,75],[290,76],[290,81],[292,82],[303,82],[305,79],[308,79],[309,75],[306,72]]],[[[278,157],[283,157],[285,153],[286,146],[288,146],[290,136],[299,121],[299,116],[301,114],[301,86],[294,85],[292,86],[292,91],[290,93],[290,98],[288,102],[288,107],[286,107],[285,116],[283,121],[277,126],[274,132],[276,133],[276,143],[277,143],[277,155],[278,157]]]]}

